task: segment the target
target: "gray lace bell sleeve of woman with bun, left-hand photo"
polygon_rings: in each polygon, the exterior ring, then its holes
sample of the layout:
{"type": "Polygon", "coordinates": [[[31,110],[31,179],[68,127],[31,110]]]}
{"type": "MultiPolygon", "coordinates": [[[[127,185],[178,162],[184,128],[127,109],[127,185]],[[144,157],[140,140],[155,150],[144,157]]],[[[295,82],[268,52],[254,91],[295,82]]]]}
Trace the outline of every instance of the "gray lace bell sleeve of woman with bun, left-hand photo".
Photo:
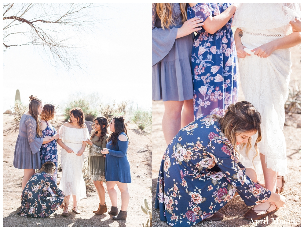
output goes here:
{"type": "Polygon", "coordinates": [[[33,154],[35,154],[39,152],[42,146],[43,138],[36,137],[37,123],[34,118],[32,118],[31,116],[27,116],[25,118],[24,124],[27,129],[27,140],[30,144],[31,151],[33,154]]]}

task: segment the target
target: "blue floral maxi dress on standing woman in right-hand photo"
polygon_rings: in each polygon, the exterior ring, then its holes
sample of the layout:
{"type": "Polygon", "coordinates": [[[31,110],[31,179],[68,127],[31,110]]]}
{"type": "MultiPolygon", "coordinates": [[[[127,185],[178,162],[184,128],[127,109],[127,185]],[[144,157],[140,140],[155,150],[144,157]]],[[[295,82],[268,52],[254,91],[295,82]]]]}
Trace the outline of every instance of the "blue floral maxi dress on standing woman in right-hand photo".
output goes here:
{"type": "MultiPolygon", "coordinates": [[[[219,15],[231,3],[198,3],[188,6],[188,19],[219,15]]],[[[237,56],[232,18],[214,34],[204,29],[197,31],[193,41],[191,70],[193,80],[194,115],[200,118],[209,114],[224,115],[229,104],[237,102],[237,56]]]]}

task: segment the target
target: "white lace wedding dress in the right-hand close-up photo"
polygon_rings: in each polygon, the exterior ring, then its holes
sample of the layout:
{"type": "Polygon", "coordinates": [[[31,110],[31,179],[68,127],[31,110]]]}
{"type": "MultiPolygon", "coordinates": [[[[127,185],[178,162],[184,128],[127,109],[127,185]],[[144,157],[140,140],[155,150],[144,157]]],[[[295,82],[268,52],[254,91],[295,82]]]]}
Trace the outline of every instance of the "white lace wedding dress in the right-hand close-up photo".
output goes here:
{"type": "MultiPolygon", "coordinates": [[[[233,19],[233,25],[243,31],[242,44],[250,50],[262,44],[288,35],[289,22],[301,17],[296,3],[241,3],[233,19]]],[[[267,58],[257,55],[239,58],[241,87],[245,100],[251,102],[262,117],[262,141],[258,148],[265,155],[267,168],[287,174],[286,144],[282,132],[285,120],[284,104],[288,98],[288,84],[291,74],[290,49],[279,49],[267,58]]],[[[255,143],[257,134],[253,138],[255,143]]],[[[242,164],[252,166],[255,155],[248,156],[242,164]]],[[[259,157],[254,164],[261,169],[259,157]]],[[[259,170],[258,170],[259,171],[259,170]]]]}

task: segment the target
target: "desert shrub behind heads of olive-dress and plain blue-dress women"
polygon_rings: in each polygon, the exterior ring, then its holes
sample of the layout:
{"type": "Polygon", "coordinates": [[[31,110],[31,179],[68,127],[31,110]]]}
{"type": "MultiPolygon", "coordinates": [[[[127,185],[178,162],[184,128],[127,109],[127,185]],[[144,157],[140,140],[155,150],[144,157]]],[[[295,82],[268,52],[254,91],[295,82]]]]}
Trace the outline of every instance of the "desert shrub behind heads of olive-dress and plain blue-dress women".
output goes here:
{"type": "Polygon", "coordinates": [[[103,115],[108,121],[111,121],[111,119],[115,116],[119,115],[125,115],[126,114],[126,107],[129,104],[128,101],[122,101],[119,102],[117,105],[115,103],[115,100],[113,100],[112,105],[99,105],[99,112],[101,115],[103,115]]]}

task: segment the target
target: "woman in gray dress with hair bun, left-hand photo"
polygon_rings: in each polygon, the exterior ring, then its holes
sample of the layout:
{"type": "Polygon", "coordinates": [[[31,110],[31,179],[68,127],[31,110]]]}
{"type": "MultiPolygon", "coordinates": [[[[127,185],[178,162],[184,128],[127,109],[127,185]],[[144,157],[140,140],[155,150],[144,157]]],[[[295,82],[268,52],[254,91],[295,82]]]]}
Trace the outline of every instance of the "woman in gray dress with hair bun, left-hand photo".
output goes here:
{"type": "Polygon", "coordinates": [[[28,111],[21,116],[19,125],[19,135],[16,141],[14,153],[14,167],[24,169],[22,179],[22,189],[27,181],[35,173],[35,169],[40,169],[40,148],[42,142],[47,143],[53,137],[42,138],[41,126],[38,116],[41,114],[42,101],[36,96],[30,96],[28,111]]]}

